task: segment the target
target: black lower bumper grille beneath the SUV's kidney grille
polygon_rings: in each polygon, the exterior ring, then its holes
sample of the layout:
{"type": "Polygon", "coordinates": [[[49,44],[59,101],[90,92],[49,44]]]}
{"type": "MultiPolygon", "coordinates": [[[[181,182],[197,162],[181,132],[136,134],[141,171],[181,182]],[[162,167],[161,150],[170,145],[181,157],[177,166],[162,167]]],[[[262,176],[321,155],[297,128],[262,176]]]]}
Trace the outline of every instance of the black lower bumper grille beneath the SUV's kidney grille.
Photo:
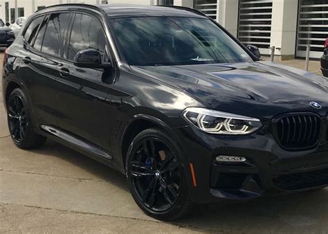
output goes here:
{"type": "Polygon", "coordinates": [[[277,188],[282,190],[299,190],[328,184],[328,168],[311,172],[286,174],[273,179],[277,188]]]}

